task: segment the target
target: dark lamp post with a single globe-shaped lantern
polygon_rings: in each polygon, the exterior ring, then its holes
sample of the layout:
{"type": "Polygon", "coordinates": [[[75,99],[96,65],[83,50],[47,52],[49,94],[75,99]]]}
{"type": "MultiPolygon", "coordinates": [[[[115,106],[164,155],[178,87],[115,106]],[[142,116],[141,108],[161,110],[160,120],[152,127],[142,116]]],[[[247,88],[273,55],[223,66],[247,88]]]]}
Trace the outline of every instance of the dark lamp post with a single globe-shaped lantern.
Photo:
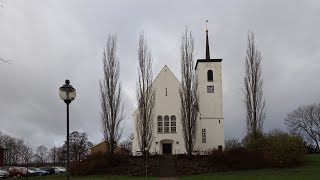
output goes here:
{"type": "Polygon", "coordinates": [[[66,84],[59,88],[59,96],[67,104],[67,180],[69,180],[69,104],[76,98],[76,90],[70,85],[68,79],[66,84]]]}

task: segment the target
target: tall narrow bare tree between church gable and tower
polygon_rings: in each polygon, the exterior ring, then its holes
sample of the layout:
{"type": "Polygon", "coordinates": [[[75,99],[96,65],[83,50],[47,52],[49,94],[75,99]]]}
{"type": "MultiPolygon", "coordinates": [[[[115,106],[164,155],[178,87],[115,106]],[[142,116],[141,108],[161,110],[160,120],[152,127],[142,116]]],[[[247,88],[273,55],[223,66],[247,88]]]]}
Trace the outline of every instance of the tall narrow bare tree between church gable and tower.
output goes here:
{"type": "Polygon", "coordinates": [[[196,140],[198,118],[198,80],[193,62],[194,41],[186,28],[181,38],[181,88],[179,90],[183,138],[188,155],[191,155],[196,140]]]}

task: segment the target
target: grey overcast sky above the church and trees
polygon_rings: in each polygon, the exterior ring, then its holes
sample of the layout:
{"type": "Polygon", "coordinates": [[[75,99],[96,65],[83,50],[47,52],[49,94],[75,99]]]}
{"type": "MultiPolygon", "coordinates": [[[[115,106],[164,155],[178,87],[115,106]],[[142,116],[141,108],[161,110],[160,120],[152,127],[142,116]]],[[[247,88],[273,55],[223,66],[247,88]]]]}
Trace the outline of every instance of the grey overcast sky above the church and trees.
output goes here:
{"type": "Polygon", "coordinates": [[[118,36],[120,79],[132,132],[136,107],[137,48],[144,32],[154,77],[164,65],[180,79],[180,39],[188,26],[195,58],[205,57],[209,20],[212,58],[222,58],[225,137],[245,134],[243,106],[247,33],[262,53],[267,118],[264,130],[286,130],[283,119],[299,105],[320,102],[319,1],[98,1],[4,0],[0,2],[0,131],[34,146],[61,145],[66,106],[58,88],[70,79],[70,131],[102,140],[99,79],[109,33],[118,36]]]}

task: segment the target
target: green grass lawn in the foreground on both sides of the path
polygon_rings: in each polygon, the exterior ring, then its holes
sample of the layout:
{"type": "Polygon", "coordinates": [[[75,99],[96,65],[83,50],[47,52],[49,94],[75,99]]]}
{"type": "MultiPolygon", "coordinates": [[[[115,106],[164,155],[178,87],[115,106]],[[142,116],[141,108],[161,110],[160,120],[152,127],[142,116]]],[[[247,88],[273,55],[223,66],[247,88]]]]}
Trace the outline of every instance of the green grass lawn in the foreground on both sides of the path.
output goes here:
{"type": "MultiPolygon", "coordinates": [[[[219,179],[230,179],[230,180],[295,180],[295,179],[315,179],[320,180],[320,155],[308,155],[307,162],[305,165],[297,168],[283,168],[283,169],[262,169],[262,170],[248,170],[248,171],[231,171],[221,173],[210,173],[195,176],[184,176],[179,179],[182,180],[219,180],[219,179]]],[[[32,177],[30,180],[64,180],[65,176],[46,176],[46,177],[32,177]]],[[[145,179],[145,177],[130,177],[130,176],[81,176],[71,177],[71,180],[103,180],[103,179],[130,179],[139,180],[145,179]]],[[[157,179],[154,177],[148,177],[148,179],[157,179]]]]}

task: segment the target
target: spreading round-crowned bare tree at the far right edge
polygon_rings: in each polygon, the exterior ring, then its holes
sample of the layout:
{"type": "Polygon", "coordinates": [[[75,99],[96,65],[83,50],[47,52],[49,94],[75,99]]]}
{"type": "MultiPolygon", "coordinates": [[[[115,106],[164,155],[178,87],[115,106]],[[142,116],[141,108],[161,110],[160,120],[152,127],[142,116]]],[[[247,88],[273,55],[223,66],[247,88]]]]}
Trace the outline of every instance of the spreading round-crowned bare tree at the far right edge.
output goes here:
{"type": "Polygon", "coordinates": [[[303,105],[287,114],[284,119],[291,133],[299,134],[312,141],[319,149],[320,143],[320,103],[303,105]]]}

